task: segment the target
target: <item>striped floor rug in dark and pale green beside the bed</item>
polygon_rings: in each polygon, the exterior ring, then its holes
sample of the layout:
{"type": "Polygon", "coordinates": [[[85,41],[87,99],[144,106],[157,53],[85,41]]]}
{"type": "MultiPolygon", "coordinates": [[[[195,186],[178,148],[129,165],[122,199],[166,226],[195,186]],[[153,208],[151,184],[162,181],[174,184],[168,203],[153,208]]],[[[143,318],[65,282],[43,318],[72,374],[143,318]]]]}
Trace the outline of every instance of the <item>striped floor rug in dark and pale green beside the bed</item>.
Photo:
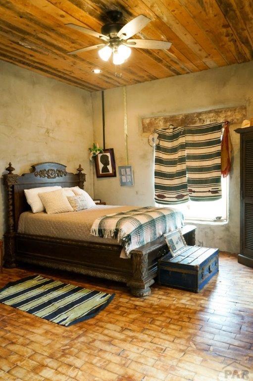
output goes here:
{"type": "Polygon", "coordinates": [[[0,303],[69,326],[93,318],[114,295],[33,275],[0,289],[0,303]]]}

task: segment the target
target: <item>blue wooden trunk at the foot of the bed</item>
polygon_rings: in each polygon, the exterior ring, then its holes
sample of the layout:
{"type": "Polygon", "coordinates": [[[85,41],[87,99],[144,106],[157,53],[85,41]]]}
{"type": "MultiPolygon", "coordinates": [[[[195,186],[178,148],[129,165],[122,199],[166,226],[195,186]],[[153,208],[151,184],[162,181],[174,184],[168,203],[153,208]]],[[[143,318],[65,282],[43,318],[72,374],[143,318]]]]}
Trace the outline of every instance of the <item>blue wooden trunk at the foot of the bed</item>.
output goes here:
{"type": "Polygon", "coordinates": [[[183,254],[169,253],[158,262],[158,283],[199,292],[219,271],[219,250],[188,246],[183,254]]]}

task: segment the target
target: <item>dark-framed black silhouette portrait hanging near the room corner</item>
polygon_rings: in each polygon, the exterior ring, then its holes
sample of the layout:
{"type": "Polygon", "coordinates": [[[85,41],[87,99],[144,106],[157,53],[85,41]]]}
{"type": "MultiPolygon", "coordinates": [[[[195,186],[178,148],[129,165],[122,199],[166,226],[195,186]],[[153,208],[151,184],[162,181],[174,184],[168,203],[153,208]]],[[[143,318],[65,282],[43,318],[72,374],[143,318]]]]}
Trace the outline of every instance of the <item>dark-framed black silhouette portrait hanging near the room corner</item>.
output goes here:
{"type": "Polygon", "coordinates": [[[96,174],[97,177],[115,177],[116,167],[113,148],[103,150],[95,156],[96,174]]]}

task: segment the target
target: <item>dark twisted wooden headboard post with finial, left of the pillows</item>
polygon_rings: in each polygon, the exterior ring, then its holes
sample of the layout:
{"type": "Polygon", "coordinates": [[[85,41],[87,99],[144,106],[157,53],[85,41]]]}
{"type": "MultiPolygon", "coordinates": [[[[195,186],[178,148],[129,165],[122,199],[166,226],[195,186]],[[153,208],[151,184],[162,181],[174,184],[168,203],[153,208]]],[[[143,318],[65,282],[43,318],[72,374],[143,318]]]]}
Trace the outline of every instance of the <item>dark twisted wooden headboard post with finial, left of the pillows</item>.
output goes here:
{"type": "Polygon", "coordinates": [[[8,174],[3,175],[3,184],[7,190],[7,231],[4,234],[4,266],[8,268],[16,267],[15,264],[15,217],[14,217],[14,197],[13,188],[18,183],[18,175],[12,172],[15,168],[9,166],[6,168],[8,174]]]}

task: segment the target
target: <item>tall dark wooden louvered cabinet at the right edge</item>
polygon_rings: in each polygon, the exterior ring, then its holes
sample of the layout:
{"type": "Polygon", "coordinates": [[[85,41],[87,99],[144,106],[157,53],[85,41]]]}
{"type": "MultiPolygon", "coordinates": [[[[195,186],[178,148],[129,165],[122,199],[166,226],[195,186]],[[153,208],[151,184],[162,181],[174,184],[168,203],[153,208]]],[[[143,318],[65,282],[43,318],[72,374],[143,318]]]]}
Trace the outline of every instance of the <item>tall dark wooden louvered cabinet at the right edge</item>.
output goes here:
{"type": "Polygon", "coordinates": [[[253,267],[253,127],[238,128],[241,147],[241,245],[238,262],[253,267]]]}

